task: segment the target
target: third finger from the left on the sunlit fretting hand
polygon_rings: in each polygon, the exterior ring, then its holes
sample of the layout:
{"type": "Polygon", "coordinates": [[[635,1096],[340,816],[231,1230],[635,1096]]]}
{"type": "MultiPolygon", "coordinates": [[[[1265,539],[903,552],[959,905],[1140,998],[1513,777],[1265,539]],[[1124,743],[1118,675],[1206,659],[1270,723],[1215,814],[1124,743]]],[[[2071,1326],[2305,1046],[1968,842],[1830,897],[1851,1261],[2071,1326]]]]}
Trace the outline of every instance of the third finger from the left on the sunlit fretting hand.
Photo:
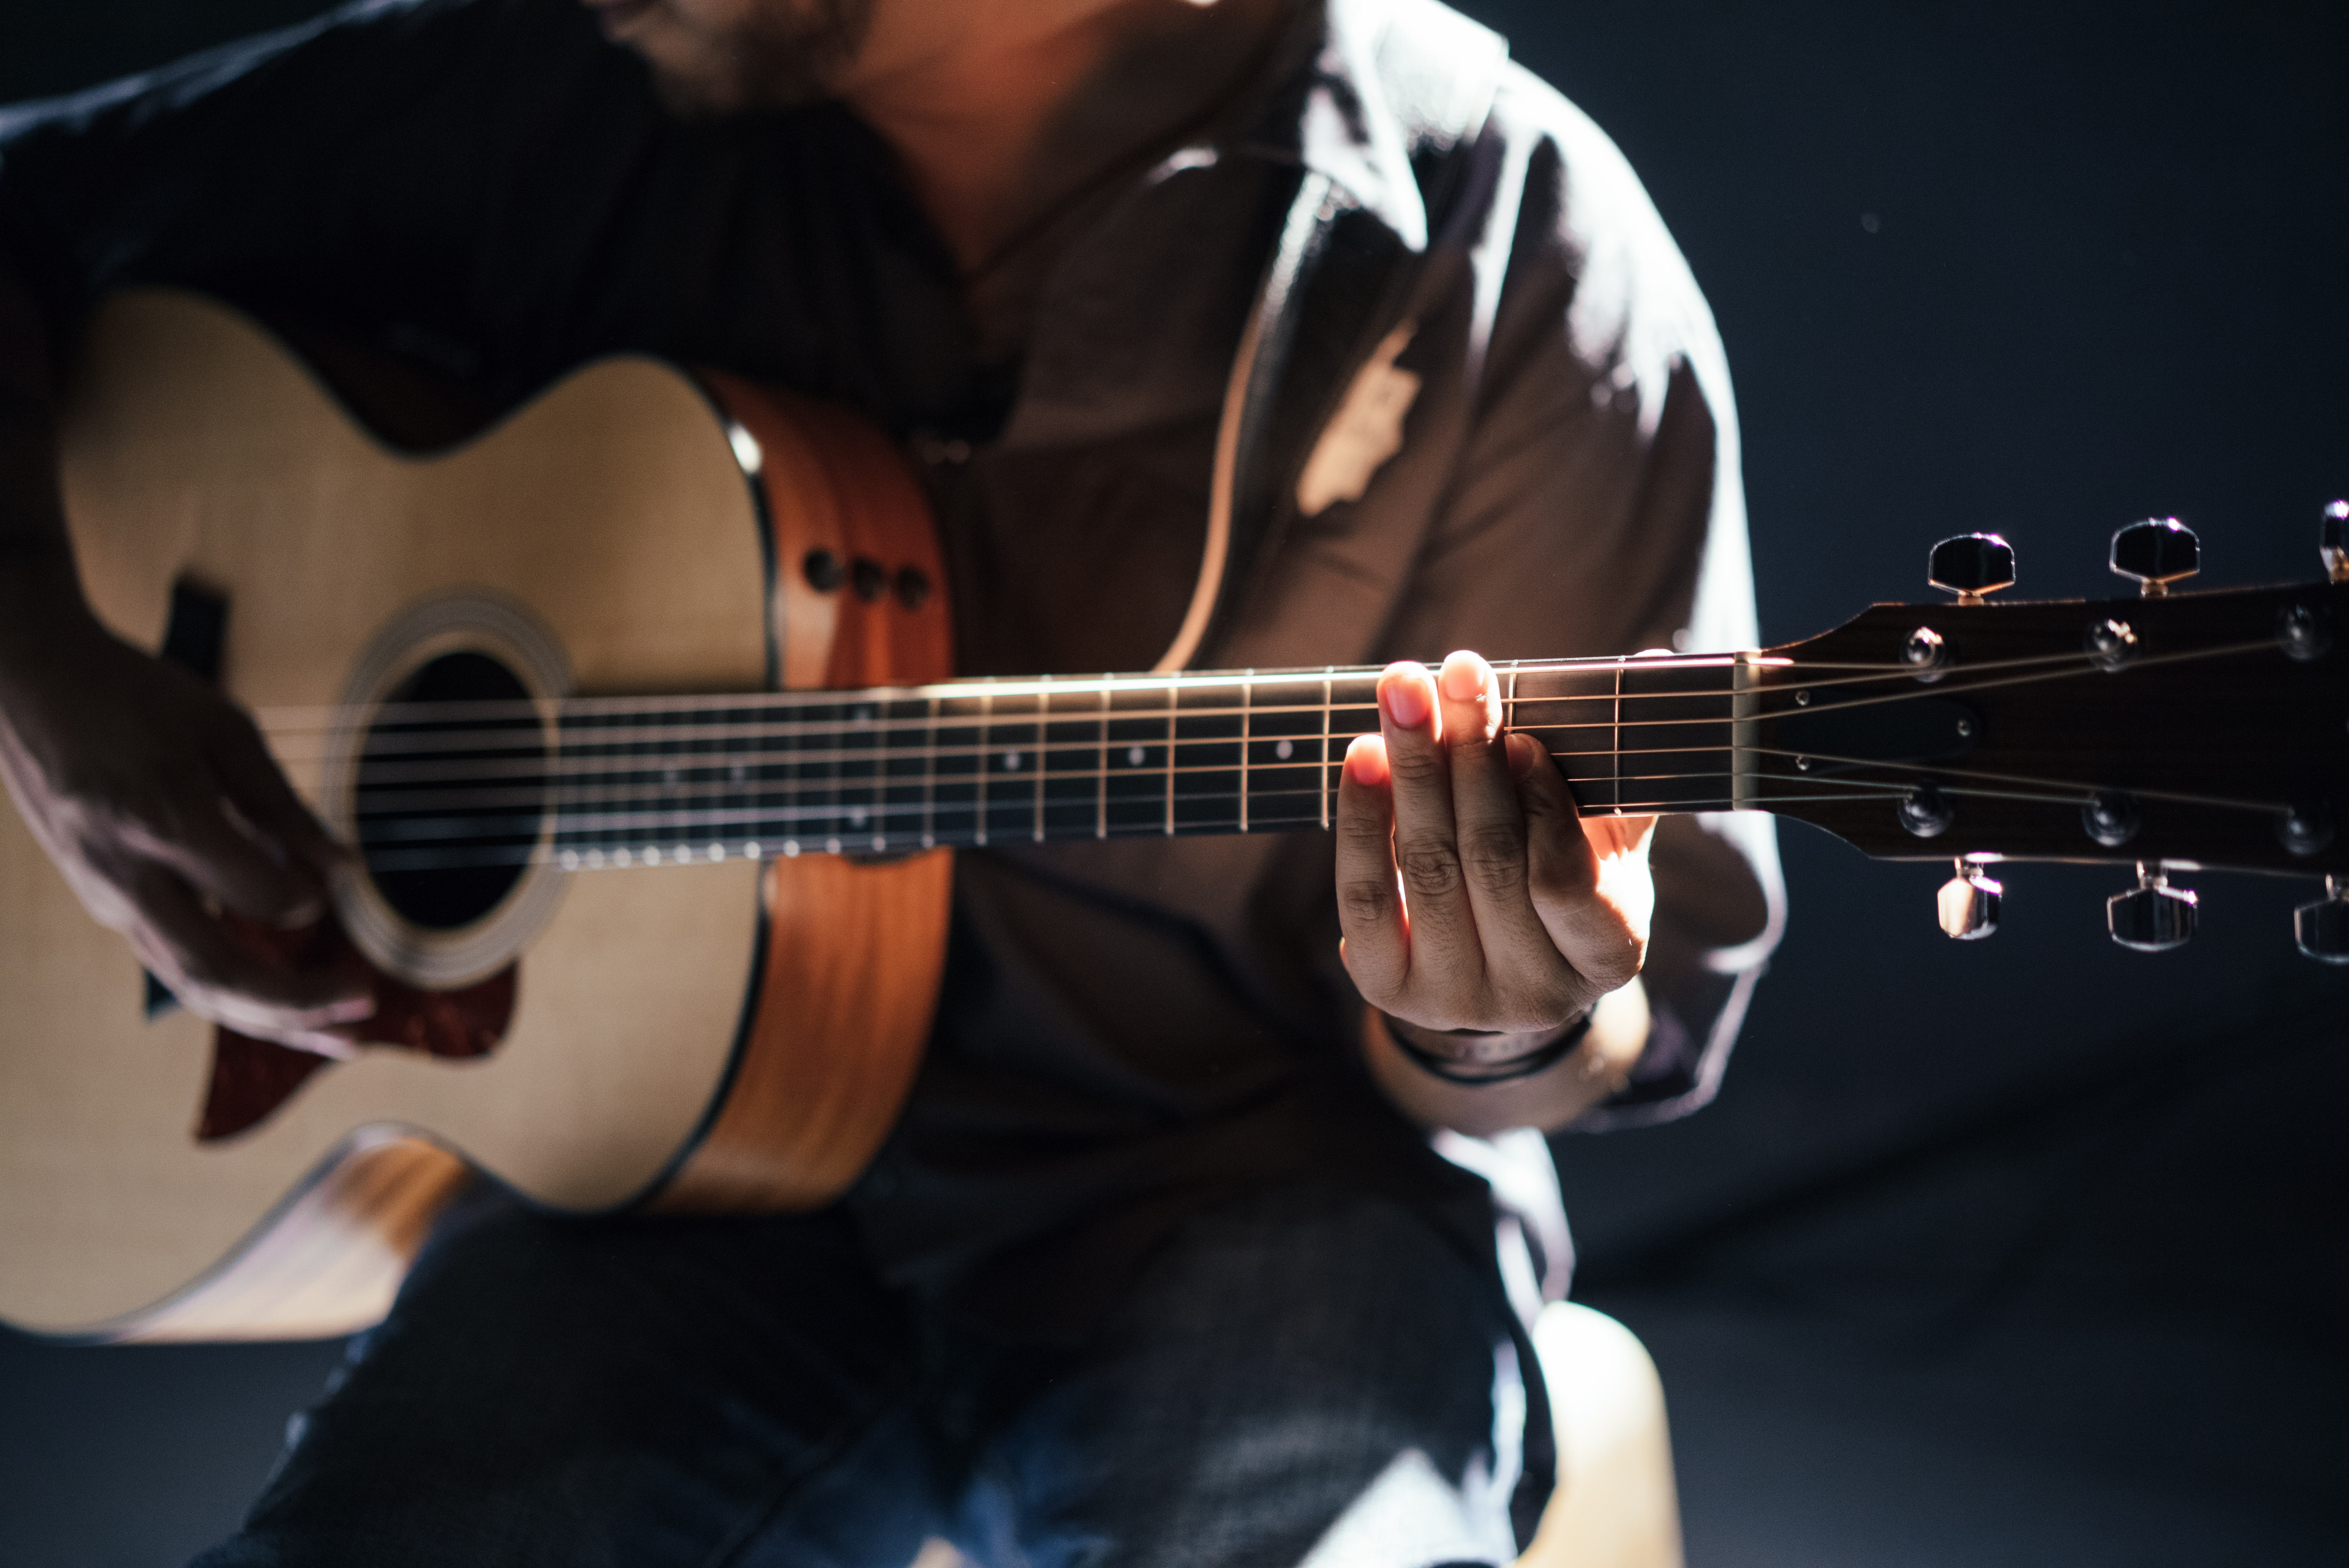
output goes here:
{"type": "Polygon", "coordinates": [[[1496,1005],[1482,1023],[1503,1030],[1548,1028],[1574,1012],[1579,986],[1534,913],[1525,810],[1501,735],[1501,683],[1482,657],[1454,653],[1435,688],[1442,692],[1445,749],[1452,756],[1461,880],[1496,1005]]]}

